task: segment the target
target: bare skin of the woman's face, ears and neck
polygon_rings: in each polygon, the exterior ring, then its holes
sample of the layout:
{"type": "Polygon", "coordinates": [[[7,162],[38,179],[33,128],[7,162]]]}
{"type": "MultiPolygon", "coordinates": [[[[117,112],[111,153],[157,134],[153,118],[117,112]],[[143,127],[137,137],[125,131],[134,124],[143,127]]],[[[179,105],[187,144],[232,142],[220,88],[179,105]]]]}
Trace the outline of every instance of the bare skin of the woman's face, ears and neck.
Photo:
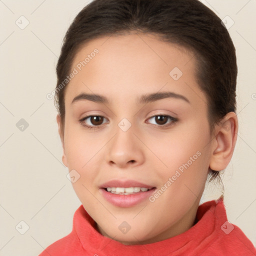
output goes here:
{"type": "MultiPolygon", "coordinates": [[[[151,34],[126,34],[89,41],[76,54],[72,69],[84,56],[99,50],[76,74],[65,91],[64,127],[57,115],[62,141],[62,161],[80,178],[72,183],[85,210],[95,220],[97,231],[123,244],[161,241],[189,229],[195,221],[208,168],[224,169],[231,159],[237,134],[237,118],[229,112],[211,134],[206,97],[195,77],[192,52],[162,42],[151,34]],[[174,80],[170,70],[183,75],[174,80]],[[170,91],[189,100],[163,98],[137,103],[141,95],[170,91]],[[79,100],[79,93],[107,97],[109,104],[79,100]],[[87,115],[105,117],[96,126],[87,115]],[[163,127],[154,115],[170,115],[163,127]],[[152,118],[151,118],[152,117],[152,118]],[[126,118],[127,131],[118,123],[126,118]],[[160,124],[159,124],[160,123],[160,124]],[[111,179],[134,179],[160,189],[180,165],[196,152],[200,156],[153,202],[131,207],[114,206],[104,199],[99,185],[111,179]],[[118,226],[126,221],[130,230],[118,226]]],[[[97,123],[96,123],[97,124],[97,123]]]]}

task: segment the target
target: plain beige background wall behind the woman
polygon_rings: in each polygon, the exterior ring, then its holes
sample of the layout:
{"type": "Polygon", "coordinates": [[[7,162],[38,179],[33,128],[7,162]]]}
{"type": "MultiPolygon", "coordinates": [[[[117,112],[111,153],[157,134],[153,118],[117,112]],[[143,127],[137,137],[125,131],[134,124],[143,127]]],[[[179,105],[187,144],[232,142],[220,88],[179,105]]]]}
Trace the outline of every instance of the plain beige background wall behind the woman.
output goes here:
{"type": "MultiPolygon", "coordinates": [[[[55,87],[64,33],[87,2],[0,0],[0,255],[38,255],[71,231],[80,205],[61,162],[57,112],[46,94],[55,87]],[[28,123],[23,131],[16,127],[21,118],[28,123]],[[20,221],[29,226],[24,234],[20,221]]],[[[256,2],[202,2],[228,25],[234,21],[228,31],[237,51],[239,133],[223,176],[224,202],[229,221],[256,245],[256,2]]],[[[208,187],[202,201],[217,198],[217,189],[208,187]]]]}

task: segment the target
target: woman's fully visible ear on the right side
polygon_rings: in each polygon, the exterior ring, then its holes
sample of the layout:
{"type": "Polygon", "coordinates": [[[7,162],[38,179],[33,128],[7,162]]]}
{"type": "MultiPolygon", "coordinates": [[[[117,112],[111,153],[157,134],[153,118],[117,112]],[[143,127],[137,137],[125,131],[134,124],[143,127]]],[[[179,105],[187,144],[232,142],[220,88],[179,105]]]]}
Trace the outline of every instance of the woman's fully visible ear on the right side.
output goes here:
{"type": "Polygon", "coordinates": [[[234,112],[227,113],[215,128],[209,167],[223,170],[231,160],[237,139],[238,121],[234,112]]]}

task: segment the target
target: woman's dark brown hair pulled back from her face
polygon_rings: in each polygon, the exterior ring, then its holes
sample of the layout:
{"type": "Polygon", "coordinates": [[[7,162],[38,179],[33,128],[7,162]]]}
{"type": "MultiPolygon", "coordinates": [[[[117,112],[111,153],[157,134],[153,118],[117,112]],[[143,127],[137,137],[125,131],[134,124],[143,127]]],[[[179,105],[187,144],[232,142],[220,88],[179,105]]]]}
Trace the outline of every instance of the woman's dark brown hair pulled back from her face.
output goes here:
{"type": "MultiPolygon", "coordinates": [[[[225,114],[235,111],[235,48],[220,18],[208,7],[199,0],[93,0],[69,26],[56,66],[54,103],[62,128],[66,86],[59,89],[58,85],[70,73],[75,54],[89,40],[129,32],[155,34],[160,40],[194,53],[197,81],[207,98],[211,132],[225,114]]],[[[210,173],[211,179],[219,177],[219,171],[210,173]]]]}

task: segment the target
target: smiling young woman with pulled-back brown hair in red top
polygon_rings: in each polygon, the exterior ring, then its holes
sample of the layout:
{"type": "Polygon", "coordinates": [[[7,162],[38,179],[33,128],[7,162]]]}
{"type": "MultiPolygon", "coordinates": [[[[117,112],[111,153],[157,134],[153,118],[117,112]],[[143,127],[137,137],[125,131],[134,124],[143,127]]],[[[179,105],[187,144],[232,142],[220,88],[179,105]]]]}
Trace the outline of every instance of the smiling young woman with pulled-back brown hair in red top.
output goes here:
{"type": "Polygon", "coordinates": [[[94,0],[66,32],[55,102],[82,205],[40,256],[255,255],[223,197],[237,137],[235,48],[198,0],[94,0]]]}

